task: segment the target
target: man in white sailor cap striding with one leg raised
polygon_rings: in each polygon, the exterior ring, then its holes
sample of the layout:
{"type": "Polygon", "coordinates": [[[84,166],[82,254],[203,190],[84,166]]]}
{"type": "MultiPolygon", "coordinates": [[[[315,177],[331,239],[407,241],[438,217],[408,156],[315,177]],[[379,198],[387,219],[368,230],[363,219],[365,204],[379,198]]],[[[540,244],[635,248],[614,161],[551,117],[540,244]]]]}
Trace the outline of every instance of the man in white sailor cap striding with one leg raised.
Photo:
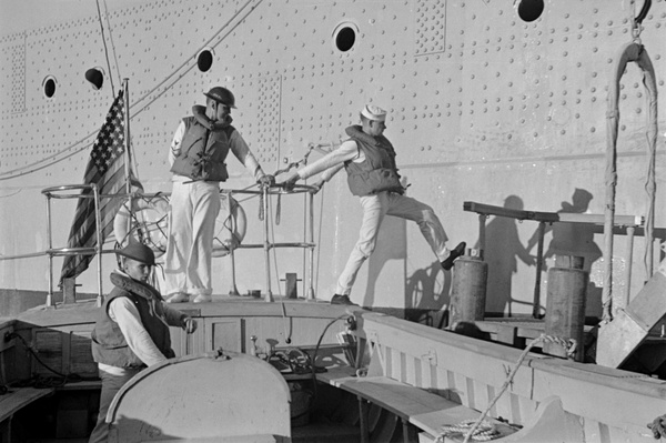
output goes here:
{"type": "Polygon", "coordinates": [[[360,197],[363,223],[359,241],[337,279],[332,304],[355,304],[350,300],[352,286],[361,265],[375,249],[385,215],[416,222],[445,270],[450,270],[454,260],[465,250],[465,242],[461,242],[454,250],[448,250],[444,228],[433,209],[404,195],[405,188],[401,183],[395,164],[395,150],[383,135],[386,129],[385,121],[386,111],[372,104],[365,105],[361,111],[361,125],[351,125],[345,131],[349,140],[322,159],[301,168],[284,183],[284,187],[290,189],[300,179],[307,179],[323,171],[314,184],[319,190],[344,168],[350,190],[360,197]]]}

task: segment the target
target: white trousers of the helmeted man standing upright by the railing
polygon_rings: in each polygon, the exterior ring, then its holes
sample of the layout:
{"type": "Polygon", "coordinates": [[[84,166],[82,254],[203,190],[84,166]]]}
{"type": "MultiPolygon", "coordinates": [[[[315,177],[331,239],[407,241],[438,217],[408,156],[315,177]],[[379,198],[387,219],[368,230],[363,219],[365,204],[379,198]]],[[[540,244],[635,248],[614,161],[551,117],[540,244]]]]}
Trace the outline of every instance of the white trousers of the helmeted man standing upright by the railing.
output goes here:
{"type": "Polygon", "coordinates": [[[173,182],[164,259],[167,295],[213,293],[212,252],[220,205],[218,182],[173,182]]]}

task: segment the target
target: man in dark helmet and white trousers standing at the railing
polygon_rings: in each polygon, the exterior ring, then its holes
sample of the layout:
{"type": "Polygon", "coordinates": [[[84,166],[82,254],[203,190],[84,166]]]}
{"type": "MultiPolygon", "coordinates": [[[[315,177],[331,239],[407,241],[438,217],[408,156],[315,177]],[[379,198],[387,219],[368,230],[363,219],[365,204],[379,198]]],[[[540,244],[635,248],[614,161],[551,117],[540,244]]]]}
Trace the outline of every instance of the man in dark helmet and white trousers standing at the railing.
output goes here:
{"type": "Polygon", "coordinates": [[[205,108],[178,127],[169,163],[173,173],[171,217],[164,256],[169,303],[210,302],[215,219],[220,212],[220,182],[226,181],[226,157],[231,152],[262,185],[274,178],[265,174],[239,131],[231,125],[235,98],[222,87],[205,92],[205,108]]]}

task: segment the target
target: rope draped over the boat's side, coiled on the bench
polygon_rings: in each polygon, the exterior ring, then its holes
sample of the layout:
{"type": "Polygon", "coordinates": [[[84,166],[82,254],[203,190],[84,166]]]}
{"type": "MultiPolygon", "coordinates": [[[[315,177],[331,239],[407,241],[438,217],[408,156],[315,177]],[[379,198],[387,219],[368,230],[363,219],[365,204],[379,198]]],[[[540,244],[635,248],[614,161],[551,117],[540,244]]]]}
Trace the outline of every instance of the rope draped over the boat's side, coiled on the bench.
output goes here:
{"type": "MultiPolygon", "coordinates": [[[[487,422],[485,422],[486,415],[488,414],[491,409],[495,405],[495,403],[497,403],[497,400],[500,400],[500,397],[502,396],[502,394],[504,394],[506,389],[513,383],[513,379],[516,376],[516,373],[518,372],[521,364],[523,363],[523,361],[525,360],[525,358],[527,356],[527,354],[529,353],[532,348],[534,348],[536,344],[538,344],[541,342],[551,342],[551,343],[557,343],[557,344],[562,345],[566,350],[567,358],[572,358],[576,353],[576,341],[573,339],[567,340],[567,339],[562,339],[562,338],[554,336],[554,335],[541,334],[536,339],[532,340],[527,344],[527,346],[523,350],[523,352],[521,353],[521,356],[518,358],[518,361],[516,362],[515,368],[511,371],[511,373],[504,381],[504,384],[502,385],[502,389],[500,389],[500,392],[495,395],[493,401],[487,405],[487,407],[481,414],[481,416],[476,420],[476,422],[474,422],[474,425],[468,426],[467,421],[461,422],[457,425],[457,426],[463,426],[463,427],[467,429],[467,433],[465,434],[465,440],[463,441],[463,443],[467,443],[470,441],[470,439],[481,441],[480,439],[475,437],[475,435],[477,434],[477,430],[481,429],[482,431],[487,431],[486,426],[484,424],[484,423],[487,423],[487,422]]],[[[456,427],[456,426],[453,426],[452,429],[450,429],[450,427],[451,427],[450,425],[443,426],[442,434],[440,434],[437,436],[435,442],[444,442],[444,437],[450,436],[452,434],[462,433],[462,432],[460,432],[458,427],[456,427]]],[[[483,441],[493,440],[493,439],[496,439],[497,436],[500,436],[500,433],[497,433],[497,434],[487,433],[487,435],[494,435],[494,436],[486,437],[486,434],[484,433],[480,437],[485,439],[483,441]]]]}

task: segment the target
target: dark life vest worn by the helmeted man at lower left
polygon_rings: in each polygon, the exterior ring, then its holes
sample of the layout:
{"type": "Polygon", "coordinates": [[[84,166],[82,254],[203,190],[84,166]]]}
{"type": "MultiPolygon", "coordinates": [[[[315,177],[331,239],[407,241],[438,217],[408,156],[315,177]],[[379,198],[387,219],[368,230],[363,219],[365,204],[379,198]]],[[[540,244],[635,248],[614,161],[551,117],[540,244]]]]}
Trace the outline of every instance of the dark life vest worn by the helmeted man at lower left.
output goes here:
{"type": "Polygon", "coordinates": [[[168,359],[175,356],[171,349],[169,326],[164,322],[160,293],[145,283],[119,273],[111,274],[111,282],[115,288],[104,301],[92,331],[93,360],[117,368],[141,368],[144,365],[128,345],[118,323],[109,316],[109,303],[121,296],[127,296],[134,303],[139,310],[143,328],[145,328],[160,352],[168,359]]]}

